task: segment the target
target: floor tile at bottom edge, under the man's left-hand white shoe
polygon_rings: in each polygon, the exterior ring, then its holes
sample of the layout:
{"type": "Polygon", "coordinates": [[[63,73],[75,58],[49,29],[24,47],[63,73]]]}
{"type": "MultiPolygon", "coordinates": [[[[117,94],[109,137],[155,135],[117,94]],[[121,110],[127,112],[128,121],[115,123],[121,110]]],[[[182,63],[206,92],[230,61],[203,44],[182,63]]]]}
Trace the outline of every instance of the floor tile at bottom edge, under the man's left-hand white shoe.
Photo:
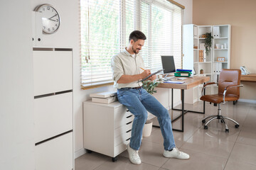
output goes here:
{"type": "Polygon", "coordinates": [[[142,162],[140,165],[132,164],[126,157],[117,157],[117,162],[105,162],[95,170],[158,170],[160,167],[145,164],[142,162]]]}

